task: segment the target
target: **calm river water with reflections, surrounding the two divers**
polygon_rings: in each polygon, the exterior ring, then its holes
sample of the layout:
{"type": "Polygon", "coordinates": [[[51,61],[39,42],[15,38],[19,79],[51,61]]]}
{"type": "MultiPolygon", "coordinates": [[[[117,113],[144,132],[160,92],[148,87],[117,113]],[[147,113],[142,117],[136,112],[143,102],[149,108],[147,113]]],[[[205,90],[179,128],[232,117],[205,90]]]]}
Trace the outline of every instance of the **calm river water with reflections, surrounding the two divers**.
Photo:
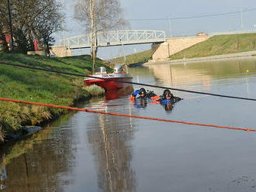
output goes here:
{"type": "MultiPolygon", "coordinates": [[[[129,71],[134,82],[256,98],[256,59],[129,71]]],[[[172,93],[184,99],[170,111],[123,94],[81,108],[256,129],[255,101],[172,93]]],[[[256,132],[73,112],[0,155],[3,191],[256,191],[256,132]]]]}

